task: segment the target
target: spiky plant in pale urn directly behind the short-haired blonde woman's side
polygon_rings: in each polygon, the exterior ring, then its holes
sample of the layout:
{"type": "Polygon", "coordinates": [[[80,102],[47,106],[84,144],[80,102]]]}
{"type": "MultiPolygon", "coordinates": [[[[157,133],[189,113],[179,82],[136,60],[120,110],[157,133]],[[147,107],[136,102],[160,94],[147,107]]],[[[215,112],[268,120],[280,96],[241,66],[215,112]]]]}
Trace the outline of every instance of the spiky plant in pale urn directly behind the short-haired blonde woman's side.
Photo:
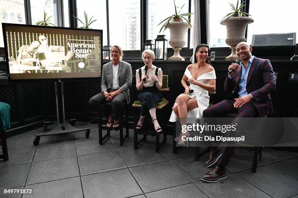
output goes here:
{"type": "Polygon", "coordinates": [[[168,43],[171,47],[173,47],[174,55],[170,57],[169,60],[177,60],[177,61],[185,60],[182,56],[180,56],[179,51],[186,44],[186,40],[185,40],[186,30],[192,27],[190,24],[190,16],[192,13],[180,14],[184,5],[180,8],[180,11],[177,12],[177,8],[179,7],[176,6],[175,0],[174,0],[175,14],[168,16],[158,24],[160,25],[163,23],[159,32],[161,32],[162,30],[165,31],[167,28],[170,30],[170,40],[168,43]],[[188,19],[186,17],[188,17],[188,19]]]}

